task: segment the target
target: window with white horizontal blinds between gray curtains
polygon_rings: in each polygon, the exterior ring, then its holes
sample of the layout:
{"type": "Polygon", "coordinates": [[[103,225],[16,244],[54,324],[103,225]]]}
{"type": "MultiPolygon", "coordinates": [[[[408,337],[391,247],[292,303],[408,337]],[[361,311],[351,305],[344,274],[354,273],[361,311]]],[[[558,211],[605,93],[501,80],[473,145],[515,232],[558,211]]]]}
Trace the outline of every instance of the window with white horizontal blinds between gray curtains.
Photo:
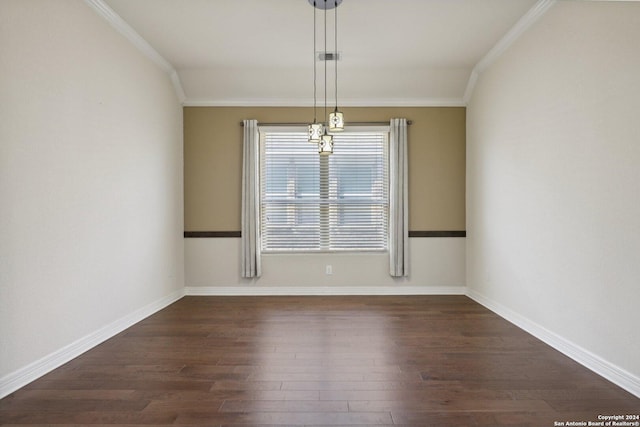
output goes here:
{"type": "Polygon", "coordinates": [[[388,129],[334,135],[320,156],[306,129],[261,128],[262,250],[387,249],[388,129]]]}

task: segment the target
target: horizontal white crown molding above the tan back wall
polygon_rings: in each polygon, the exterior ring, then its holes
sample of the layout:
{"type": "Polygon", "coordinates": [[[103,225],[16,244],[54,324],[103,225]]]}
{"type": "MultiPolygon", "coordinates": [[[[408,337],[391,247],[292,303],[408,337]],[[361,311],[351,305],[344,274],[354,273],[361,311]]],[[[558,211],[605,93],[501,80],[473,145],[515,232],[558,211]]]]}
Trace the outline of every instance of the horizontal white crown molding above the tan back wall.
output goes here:
{"type": "MultiPolygon", "coordinates": [[[[190,100],[185,107],[313,107],[313,102],[300,99],[212,99],[190,100]]],[[[432,99],[361,99],[340,101],[341,107],[464,107],[460,98],[432,99]]]]}

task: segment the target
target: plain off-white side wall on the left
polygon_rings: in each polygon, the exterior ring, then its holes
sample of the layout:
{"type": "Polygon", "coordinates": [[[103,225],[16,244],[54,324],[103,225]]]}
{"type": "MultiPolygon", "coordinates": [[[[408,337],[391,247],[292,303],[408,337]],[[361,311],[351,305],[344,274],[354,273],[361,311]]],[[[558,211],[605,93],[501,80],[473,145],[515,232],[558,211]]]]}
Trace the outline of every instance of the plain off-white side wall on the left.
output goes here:
{"type": "Polygon", "coordinates": [[[0,385],[183,290],[180,103],[80,0],[0,2],[0,205],[0,385]]]}

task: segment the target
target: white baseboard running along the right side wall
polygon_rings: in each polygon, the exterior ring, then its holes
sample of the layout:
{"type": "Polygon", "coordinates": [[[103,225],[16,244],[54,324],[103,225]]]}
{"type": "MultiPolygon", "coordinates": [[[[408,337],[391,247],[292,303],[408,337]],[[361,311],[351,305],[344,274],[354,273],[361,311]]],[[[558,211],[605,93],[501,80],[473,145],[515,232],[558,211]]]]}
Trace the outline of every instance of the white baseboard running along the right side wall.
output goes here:
{"type": "Polygon", "coordinates": [[[629,393],[640,397],[640,378],[579,345],[469,289],[467,296],[629,393]]]}

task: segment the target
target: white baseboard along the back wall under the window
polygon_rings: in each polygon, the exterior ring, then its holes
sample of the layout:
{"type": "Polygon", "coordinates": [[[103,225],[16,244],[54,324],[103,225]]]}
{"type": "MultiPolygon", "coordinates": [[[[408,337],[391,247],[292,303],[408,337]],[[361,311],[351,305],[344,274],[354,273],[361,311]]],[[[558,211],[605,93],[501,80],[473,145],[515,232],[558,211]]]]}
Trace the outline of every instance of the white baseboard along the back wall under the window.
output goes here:
{"type": "Polygon", "coordinates": [[[188,296],[465,295],[464,286],[187,286],[188,296]]]}

